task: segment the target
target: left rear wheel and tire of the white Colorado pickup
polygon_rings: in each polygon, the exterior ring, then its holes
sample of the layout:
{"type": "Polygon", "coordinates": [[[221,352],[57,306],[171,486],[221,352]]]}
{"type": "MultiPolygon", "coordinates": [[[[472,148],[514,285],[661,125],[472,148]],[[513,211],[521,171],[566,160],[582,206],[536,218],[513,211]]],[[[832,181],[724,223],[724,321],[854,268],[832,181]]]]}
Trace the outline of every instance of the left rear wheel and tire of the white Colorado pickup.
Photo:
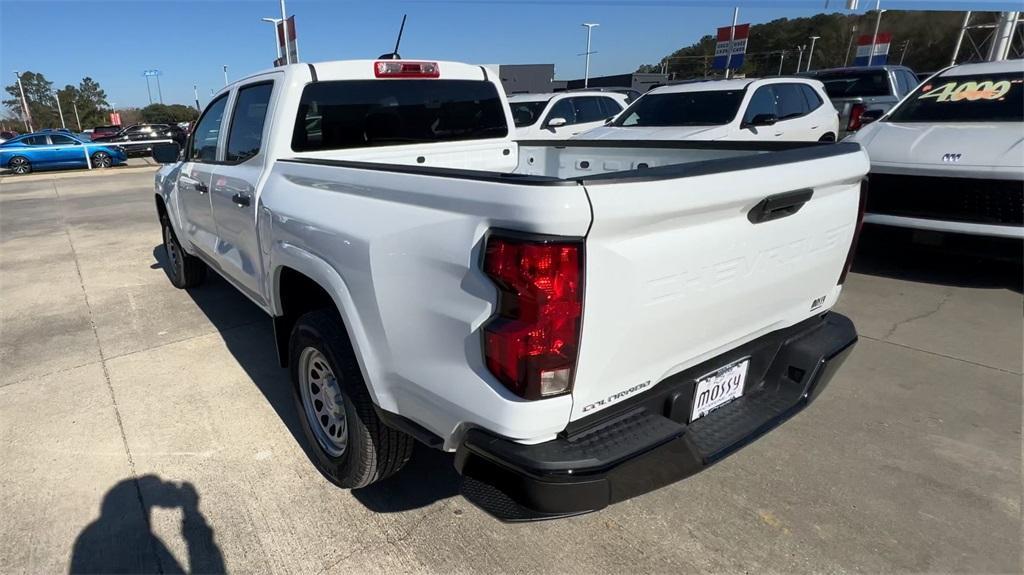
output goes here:
{"type": "Polygon", "coordinates": [[[377,416],[337,312],[301,316],[288,352],[295,406],[316,469],[347,489],[397,473],[413,454],[414,440],[377,416]]]}

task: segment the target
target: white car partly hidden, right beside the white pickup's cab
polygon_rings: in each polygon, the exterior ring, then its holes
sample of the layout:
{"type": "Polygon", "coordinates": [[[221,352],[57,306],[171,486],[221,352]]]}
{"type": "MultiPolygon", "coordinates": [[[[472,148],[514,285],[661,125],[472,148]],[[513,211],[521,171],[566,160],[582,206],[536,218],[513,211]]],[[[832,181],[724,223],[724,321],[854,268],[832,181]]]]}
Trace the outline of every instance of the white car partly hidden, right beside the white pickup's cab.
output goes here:
{"type": "Polygon", "coordinates": [[[601,126],[626,107],[615,92],[558,92],[509,96],[517,140],[563,140],[601,126]]]}

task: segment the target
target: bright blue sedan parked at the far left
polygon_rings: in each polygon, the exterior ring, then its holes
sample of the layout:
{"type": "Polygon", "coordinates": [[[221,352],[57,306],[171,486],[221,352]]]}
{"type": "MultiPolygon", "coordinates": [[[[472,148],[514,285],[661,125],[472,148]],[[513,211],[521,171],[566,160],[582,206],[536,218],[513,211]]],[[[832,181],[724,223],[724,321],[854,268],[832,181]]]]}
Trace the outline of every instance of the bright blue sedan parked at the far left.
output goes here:
{"type": "Polygon", "coordinates": [[[124,148],[72,134],[37,132],[0,143],[0,168],[15,174],[48,168],[110,168],[128,159],[124,148]]]}

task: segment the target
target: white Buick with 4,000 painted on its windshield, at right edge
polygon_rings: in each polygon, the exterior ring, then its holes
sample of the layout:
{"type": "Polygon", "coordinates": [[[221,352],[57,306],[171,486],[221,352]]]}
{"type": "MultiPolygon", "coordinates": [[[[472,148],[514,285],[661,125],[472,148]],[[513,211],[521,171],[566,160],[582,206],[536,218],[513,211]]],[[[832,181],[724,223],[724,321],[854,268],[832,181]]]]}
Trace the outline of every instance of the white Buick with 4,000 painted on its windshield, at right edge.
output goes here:
{"type": "Polygon", "coordinates": [[[871,159],[865,221],[1024,238],[1024,61],[946,69],[851,139],[871,159]]]}

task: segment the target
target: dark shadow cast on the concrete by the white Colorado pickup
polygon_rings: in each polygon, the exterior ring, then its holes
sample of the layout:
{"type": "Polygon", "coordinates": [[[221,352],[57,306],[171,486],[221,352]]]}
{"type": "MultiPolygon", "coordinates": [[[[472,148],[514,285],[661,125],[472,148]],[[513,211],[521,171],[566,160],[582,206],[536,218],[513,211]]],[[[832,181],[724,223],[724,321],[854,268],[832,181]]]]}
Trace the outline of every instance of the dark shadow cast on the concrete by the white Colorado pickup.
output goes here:
{"type": "MultiPolygon", "coordinates": [[[[167,255],[162,245],[153,249],[153,257],[157,261],[153,267],[162,267],[166,272],[167,255]]],[[[312,463],[313,454],[299,422],[291,379],[288,370],[278,364],[269,318],[216,272],[210,270],[206,277],[202,285],[186,293],[220,333],[228,351],[312,463]]],[[[452,454],[417,445],[404,469],[378,484],[353,490],[352,495],[380,513],[429,505],[459,493],[461,477],[453,459],[452,454]]]]}

